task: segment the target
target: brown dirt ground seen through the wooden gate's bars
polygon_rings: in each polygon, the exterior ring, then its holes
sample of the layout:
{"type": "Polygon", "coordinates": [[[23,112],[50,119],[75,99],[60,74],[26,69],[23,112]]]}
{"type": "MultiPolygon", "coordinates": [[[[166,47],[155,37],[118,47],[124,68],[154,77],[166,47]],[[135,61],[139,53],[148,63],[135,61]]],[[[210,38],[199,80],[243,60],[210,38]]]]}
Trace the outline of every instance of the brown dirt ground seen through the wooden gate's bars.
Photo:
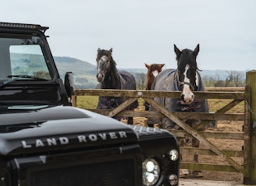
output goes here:
{"type": "MultiPolygon", "coordinates": [[[[135,117],[134,125],[145,125],[144,117],[135,117]]],[[[219,120],[216,123],[215,128],[207,129],[206,131],[216,132],[228,132],[228,133],[242,133],[242,121],[230,121],[230,120],[219,120]]],[[[241,140],[225,140],[225,139],[209,139],[210,142],[215,144],[221,150],[241,150],[244,144],[241,140]]],[[[189,145],[188,145],[189,146],[189,145]]],[[[200,144],[200,147],[206,147],[200,144]]],[[[184,154],[184,161],[192,162],[193,155],[184,154]]],[[[243,163],[242,158],[233,158],[239,164],[243,163]]],[[[199,163],[210,163],[210,164],[227,164],[226,161],[218,156],[199,155],[199,163]]],[[[180,178],[184,179],[197,179],[197,180],[218,180],[218,181],[232,181],[237,184],[243,183],[243,175],[241,173],[228,173],[223,171],[202,171],[202,177],[195,178],[191,174],[180,175],[180,178]]],[[[181,184],[182,185],[182,184],[181,184]]]]}

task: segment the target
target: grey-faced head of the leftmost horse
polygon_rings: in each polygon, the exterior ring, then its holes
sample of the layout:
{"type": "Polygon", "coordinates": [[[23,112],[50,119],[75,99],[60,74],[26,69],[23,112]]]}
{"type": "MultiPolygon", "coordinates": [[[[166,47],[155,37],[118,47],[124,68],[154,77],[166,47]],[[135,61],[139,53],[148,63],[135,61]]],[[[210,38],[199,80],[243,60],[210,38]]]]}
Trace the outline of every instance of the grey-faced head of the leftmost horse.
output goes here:
{"type": "Polygon", "coordinates": [[[115,70],[115,61],[112,57],[112,48],[109,50],[98,48],[97,54],[97,80],[103,82],[112,70],[115,70]]]}

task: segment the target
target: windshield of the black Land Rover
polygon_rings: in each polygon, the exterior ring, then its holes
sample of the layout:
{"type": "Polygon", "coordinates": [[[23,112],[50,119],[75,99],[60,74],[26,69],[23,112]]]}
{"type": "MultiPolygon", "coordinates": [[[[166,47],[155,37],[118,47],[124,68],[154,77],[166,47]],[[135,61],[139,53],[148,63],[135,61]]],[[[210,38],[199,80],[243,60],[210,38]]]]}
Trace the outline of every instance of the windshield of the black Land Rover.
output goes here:
{"type": "Polygon", "coordinates": [[[0,35],[0,80],[20,76],[50,80],[50,70],[38,36],[0,35]]]}

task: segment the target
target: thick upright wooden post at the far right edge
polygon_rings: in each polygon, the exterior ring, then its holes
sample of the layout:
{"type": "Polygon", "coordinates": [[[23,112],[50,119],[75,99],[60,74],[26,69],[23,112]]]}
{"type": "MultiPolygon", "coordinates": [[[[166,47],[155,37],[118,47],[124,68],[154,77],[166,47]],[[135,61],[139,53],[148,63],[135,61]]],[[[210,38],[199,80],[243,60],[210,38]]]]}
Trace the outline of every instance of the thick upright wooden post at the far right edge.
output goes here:
{"type": "MultiPolygon", "coordinates": [[[[244,184],[256,184],[256,70],[246,73],[246,85],[250,87],[249,111],[249,172],[244,184]]],[[[246,104],[246,103],[245,103],[246,104]]]]}

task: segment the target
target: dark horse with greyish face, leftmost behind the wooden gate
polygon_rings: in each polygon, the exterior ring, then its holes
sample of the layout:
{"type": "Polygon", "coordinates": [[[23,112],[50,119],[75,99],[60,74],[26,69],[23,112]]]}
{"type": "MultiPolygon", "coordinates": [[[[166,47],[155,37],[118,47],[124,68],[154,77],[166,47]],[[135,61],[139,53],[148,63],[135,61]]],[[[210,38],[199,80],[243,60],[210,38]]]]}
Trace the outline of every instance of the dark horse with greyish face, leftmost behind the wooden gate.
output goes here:
{"type": "MultiPolygon", "coordinates": [[[[97,75],[99,89],[124,89],[124,90],[136,90],[136,80],[134,76],[124,70],[117,70],[116,63],[112,57],[113,49],[105,50],[98,48],[97,61],[97,75]]],[[[116,108],[119,104],[124,103],[127,97],[110,97],[99,96],[98,109],[111,109],[116,108]]],[[[126,110],[133,110],[138,107],[138,101],[136,100],[130,104],[126,110]]],[[[121,120],[120,117],[114,117],[117,120],[121,120]]],[[[132,117],[128,117],[128,124],[133,125],[132,117]]]]}

